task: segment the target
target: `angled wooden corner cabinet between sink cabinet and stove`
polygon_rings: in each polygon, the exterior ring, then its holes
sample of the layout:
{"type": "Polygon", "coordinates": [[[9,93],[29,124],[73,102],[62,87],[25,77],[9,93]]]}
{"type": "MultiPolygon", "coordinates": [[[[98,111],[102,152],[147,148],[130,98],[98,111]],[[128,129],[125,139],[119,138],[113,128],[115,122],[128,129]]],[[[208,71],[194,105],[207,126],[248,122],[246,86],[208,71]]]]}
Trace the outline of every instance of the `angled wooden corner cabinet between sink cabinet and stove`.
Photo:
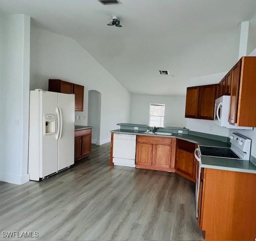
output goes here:
{"type": "Polygon", "coordinates": [[[194,157],[196,144],[186,140],[177,140],[176,148],[176,173],[196,182],[197,160],[194,157]]]}

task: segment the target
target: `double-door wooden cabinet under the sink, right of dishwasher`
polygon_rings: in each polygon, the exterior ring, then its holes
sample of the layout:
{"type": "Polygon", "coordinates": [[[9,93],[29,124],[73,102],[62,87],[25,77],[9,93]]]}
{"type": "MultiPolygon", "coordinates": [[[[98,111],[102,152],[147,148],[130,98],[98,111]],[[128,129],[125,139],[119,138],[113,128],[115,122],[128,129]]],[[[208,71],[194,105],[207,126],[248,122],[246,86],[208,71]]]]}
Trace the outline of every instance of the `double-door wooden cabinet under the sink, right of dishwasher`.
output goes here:
{"type": "Polygon", "coordinates": [[[137,136],[136,168],[175,172],[176,138],[137,136]]]}

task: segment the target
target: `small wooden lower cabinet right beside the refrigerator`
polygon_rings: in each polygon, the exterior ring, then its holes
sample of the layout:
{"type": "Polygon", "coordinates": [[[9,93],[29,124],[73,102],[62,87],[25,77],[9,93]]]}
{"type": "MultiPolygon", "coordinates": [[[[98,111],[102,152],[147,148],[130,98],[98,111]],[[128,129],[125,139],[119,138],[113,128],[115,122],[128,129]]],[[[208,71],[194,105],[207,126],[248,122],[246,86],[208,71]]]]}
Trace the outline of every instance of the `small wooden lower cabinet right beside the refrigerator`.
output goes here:
{"type": "Polygon", "coordinates": [[[92,151],[92,129],[75,131],[75,161],[89,156],[92,151]]]}

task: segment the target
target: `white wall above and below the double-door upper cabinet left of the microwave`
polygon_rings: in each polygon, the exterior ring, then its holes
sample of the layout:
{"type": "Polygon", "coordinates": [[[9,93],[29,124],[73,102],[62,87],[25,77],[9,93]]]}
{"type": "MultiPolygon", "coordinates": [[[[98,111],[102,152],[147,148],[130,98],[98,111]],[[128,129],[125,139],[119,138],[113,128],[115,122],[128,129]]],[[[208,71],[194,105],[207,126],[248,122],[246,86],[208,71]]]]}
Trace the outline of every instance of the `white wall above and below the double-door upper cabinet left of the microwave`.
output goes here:
{"type": "MultiPolygon", "coordinates": [[[[219,83],[228,71],[204,75],[190,79],[189,86],[210,85],[219,83]]],[[[214,124],[214,121],[186,118],[186,127],[193,131],[214,134],[218,136],[229,136],[229,129],[214,124]]]]}

